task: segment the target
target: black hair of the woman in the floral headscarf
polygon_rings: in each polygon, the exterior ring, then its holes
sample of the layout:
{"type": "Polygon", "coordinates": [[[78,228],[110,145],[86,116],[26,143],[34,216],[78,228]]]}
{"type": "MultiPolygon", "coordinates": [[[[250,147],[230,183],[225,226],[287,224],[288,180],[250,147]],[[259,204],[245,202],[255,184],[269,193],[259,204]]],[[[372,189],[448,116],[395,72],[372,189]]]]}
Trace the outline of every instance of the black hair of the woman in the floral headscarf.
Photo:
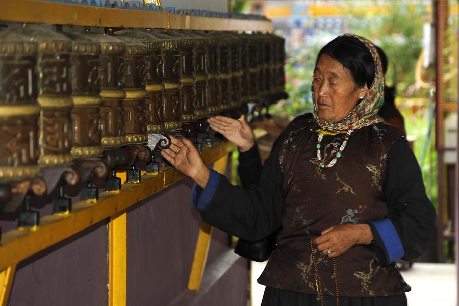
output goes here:
{"type": "Polygon", "coordinates": [[[374,80],[373,56],[358,38],[352,36],[336,38],[320,50],[317,60],[324,54],[334,58],[348,69],[358,87],[367,84],[367,87],[370,88],[374,80]]]}

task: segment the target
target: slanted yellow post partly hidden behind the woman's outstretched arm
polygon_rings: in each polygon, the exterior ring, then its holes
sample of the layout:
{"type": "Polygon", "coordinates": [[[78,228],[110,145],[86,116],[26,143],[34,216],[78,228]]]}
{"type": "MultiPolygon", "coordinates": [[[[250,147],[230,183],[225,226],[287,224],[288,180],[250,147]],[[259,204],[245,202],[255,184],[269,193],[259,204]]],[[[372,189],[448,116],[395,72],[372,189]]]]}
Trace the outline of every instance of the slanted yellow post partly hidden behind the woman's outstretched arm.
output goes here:
{"type": "MultiPolygon", "coordinates": [[[[228,155],[224,155],[215,161],[213,169],[218,173],[224,174],[227,162],[228,155]]],[[[211,236],[212,226],[205,222],[201,222],[196,248],[194,250],[190,278],[188,280],[189,290],[199,291],[199,288],[201,287],[202,275],[204,275],[204,268],[206,267],[207,253],[209,252],[211,236]]]]}

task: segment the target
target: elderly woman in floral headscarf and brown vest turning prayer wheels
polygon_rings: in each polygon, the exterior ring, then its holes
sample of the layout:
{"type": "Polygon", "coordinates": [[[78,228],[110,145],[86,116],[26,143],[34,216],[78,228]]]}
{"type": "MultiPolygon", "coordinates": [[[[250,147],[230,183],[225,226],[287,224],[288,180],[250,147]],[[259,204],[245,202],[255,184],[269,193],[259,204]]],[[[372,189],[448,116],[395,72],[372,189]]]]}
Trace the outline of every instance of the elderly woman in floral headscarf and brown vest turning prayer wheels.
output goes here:
{"type": "Polygon", "coordinates": [[[264,167],[243,121],[209,120],[239,146],[244,185],[209,170],[188,140],[162,152],[197,184],[204,221],[258,240],[282,226],[259,283],[262,305],[406,305],[394,261],[428,246],[435,211],[405,138],[377,116],[384,77],[374,45],[345,34],[324,46],[314,113],[296,118],[264,167]]]}

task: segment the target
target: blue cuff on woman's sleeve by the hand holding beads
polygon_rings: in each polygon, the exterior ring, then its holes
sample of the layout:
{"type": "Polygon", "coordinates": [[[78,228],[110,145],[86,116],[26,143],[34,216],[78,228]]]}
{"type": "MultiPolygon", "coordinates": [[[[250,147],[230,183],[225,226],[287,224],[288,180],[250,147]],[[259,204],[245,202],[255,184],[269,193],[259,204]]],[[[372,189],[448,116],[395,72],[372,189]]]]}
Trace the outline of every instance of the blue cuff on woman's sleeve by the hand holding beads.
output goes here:
{"type": "Polygon", "coordinates": [[[398,238],[397,231],[389,219],[382,219],[370,222],[374,225],[381,237],[384,246],[386,247],[389,263],[393,263],[399,258],[402,258],[405,251],[398,238]]]}

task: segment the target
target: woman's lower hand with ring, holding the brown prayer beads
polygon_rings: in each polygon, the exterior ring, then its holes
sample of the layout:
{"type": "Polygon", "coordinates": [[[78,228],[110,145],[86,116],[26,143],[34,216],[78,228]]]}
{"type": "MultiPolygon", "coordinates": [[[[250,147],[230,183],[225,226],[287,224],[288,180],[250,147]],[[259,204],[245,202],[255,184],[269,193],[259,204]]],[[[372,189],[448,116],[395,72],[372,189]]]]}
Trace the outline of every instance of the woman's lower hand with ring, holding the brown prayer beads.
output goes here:
{"type": "Polygon", "coordinates": [[[340,224],[323,230],[313,240],[317,249],[328,257],[337,257],[356,244],[370,244],[373,234],[368,224],[340,224]],[[328,254],[328,249],[331,254],[328,254]]]}

